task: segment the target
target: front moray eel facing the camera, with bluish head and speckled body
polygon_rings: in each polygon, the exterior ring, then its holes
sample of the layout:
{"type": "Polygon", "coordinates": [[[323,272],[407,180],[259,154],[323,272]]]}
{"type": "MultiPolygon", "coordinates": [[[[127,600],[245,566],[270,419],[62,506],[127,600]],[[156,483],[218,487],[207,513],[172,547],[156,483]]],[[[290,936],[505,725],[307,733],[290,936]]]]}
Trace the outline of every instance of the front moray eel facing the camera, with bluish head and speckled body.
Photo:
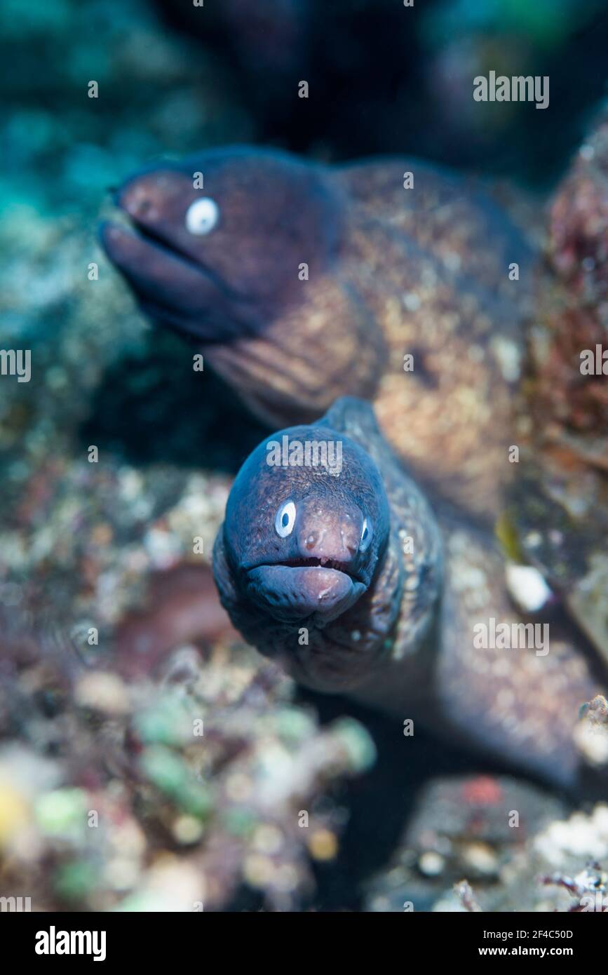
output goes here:
{"type": "Polygon", "coordinates": [[[431,508],[368,404],[344,397],[253,450],[213,572],[234,625],[297,682],[577,787],[573,730],[597,689],[584,654],[552,622],[541,650],[475,646],[477,624],[520,622],[503,557],[490,532],[431,508]]]}

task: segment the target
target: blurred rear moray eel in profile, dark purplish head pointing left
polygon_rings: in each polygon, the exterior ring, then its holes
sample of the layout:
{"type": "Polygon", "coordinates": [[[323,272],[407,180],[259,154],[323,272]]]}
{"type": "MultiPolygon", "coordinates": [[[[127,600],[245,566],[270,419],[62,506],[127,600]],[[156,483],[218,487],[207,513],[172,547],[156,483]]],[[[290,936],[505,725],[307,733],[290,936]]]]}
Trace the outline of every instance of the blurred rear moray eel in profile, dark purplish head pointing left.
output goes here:
{"type": "Polygon", "coordinates": [[[116,202],[133,226],[101,241],[141,307],[260,418],[370,400],[421,484],[494,517],[534,254],[489,197],[417,160],[242,146],[133,176],[116,202]]]}

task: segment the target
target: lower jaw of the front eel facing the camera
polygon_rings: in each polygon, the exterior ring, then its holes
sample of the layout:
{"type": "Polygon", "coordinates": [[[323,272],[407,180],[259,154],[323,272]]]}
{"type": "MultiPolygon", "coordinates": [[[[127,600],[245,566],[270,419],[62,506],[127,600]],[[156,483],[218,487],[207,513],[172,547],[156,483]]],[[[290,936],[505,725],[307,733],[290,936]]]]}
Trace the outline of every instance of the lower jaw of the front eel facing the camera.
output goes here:
{"type": "Polygon", "coordinates": [[[323,627],[357,603],[367,586],[329,560],[256,565],[247,571],[249,597],[282,622],[323,627]]]}

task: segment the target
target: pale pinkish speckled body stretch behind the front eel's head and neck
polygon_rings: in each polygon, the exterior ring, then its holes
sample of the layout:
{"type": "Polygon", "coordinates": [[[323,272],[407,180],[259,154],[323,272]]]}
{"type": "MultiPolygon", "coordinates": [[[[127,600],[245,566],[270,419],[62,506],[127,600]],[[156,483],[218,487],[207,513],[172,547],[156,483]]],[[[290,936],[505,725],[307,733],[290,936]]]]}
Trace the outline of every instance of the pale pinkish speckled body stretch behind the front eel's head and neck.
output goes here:
{"type": "Polygon", "coordinates": [[[572,788],[580,758],[573,743],[589,693],[606,686],[577,636],[547,615],[524,619],[504,585],[504,559],[493,538],[469,526],[444,524],[445,587],[442,652],[433,685],[439,714],[488,754],[527,767],[572,788]],[[471,630],[501,623],[548,622],[550,652],[534,648],[476,649],[471,630]]]}

